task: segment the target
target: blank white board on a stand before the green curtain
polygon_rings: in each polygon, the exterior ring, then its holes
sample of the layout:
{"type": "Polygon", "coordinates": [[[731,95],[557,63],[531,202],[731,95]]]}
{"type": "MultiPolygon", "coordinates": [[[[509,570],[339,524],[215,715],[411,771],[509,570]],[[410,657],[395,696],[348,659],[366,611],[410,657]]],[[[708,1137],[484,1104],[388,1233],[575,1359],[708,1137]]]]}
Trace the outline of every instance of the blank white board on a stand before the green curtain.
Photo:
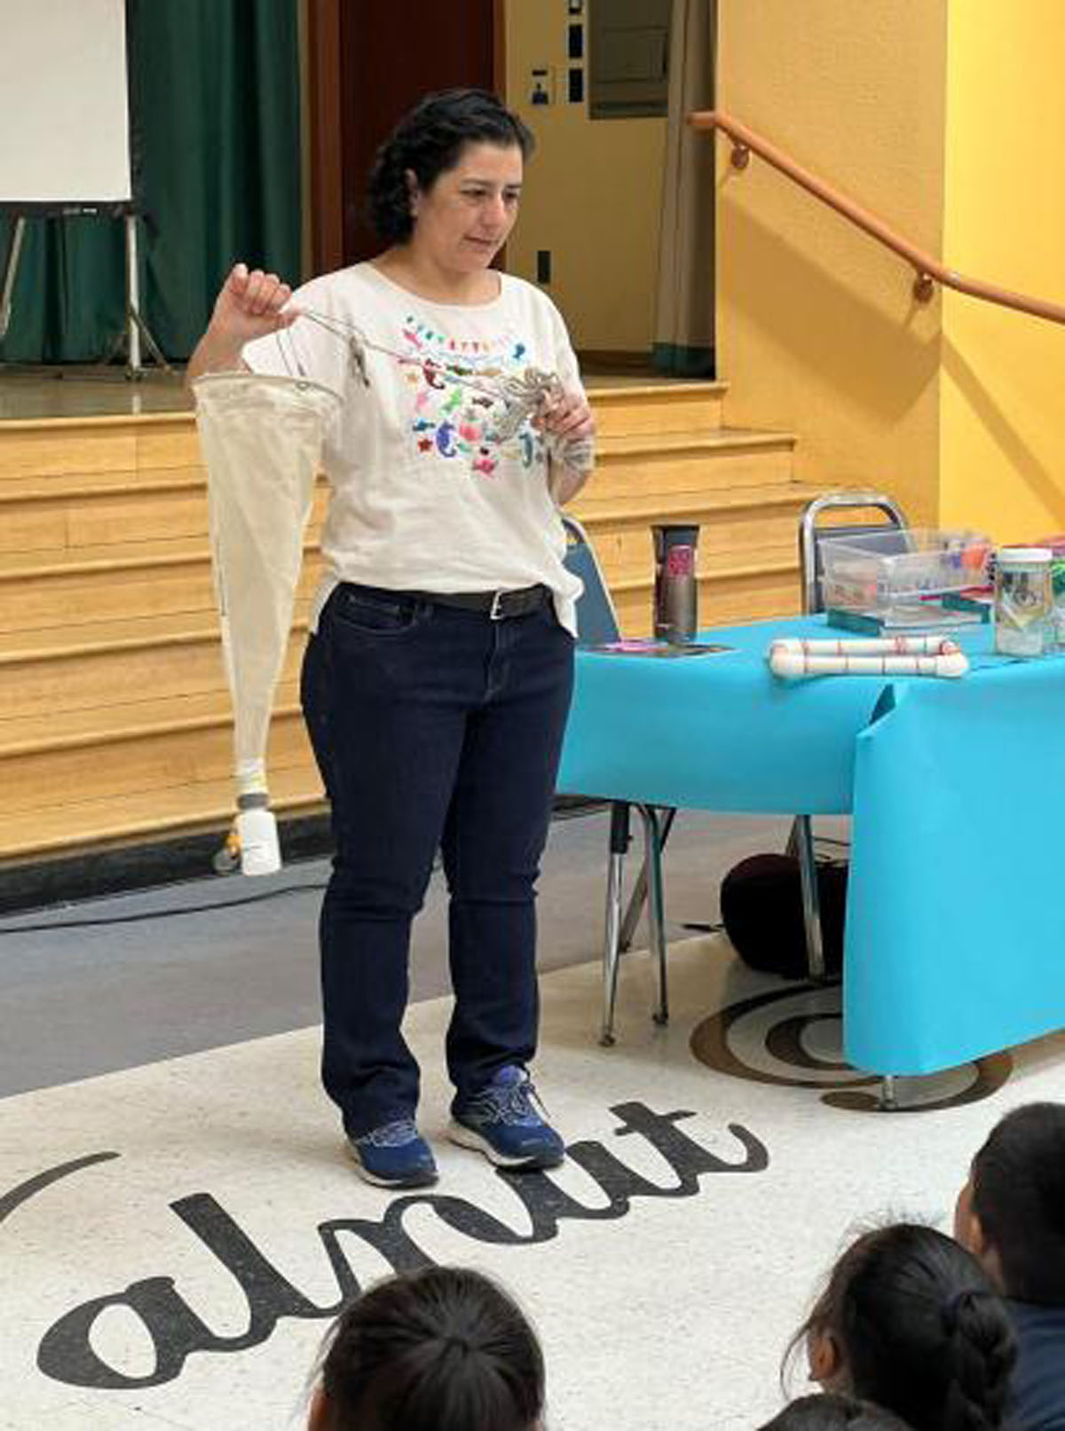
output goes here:
{"type": "Polygon", "coordinates": [[[0,207],[132,197],[125,0],[0,0],[0,207]]]}

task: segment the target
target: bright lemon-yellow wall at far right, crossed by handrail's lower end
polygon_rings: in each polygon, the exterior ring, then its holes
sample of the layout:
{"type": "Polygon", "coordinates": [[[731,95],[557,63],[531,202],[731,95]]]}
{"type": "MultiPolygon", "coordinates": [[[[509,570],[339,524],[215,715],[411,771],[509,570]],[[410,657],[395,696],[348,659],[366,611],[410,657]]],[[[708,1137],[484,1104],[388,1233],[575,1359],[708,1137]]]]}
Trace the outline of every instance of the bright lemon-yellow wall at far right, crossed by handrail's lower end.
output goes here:
{"type": "MultiPolygon", "coordinates": [[[[1065,4],[950,6],[950,268],[1065,305],[1065,4]]],[[[1065,328],[943,299],[942,517],[1002,541],[1065,529],[1065,328]]]]}

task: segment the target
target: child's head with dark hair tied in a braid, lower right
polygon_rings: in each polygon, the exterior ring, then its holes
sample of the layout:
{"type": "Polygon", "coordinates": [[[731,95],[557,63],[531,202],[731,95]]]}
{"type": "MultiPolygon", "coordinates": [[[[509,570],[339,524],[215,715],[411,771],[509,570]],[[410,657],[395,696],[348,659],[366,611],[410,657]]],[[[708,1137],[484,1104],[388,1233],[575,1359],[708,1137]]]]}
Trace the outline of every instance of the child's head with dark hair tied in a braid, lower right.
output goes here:
{"type": "Polygon", "coordinates": [[[915,1431],[1001,1424],[1015,1342],[983,1268],[933,1228],[866,1232],[797,1332],[826,1390],[886,1407],[915,1431]]]}

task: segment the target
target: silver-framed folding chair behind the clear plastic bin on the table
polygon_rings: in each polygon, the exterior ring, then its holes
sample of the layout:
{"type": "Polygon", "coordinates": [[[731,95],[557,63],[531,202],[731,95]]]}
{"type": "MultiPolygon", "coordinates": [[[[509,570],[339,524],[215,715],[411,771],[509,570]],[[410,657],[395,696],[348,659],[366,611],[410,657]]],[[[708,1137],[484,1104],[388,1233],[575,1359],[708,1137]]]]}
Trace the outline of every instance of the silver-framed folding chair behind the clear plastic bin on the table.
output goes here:
{"type": "MultiPolygon", "coordinates": [[[[829,492],[816,497],[803,508],[799,519],[799,565],[802,570],[803,615],[814,615],[825,610],[822,590],[823,554],[820,544],[825,537],[860,537],[882,531],[885,527],[899,529],[900,550],[906,548],[906,518],[902,508],[883,492],[829,492]],[[819,527],[823,512],[880,511],[886,522],[862,522],[853,525],[819,527]]],[[[817,894],[817,861],[813,843],[813,820],[809,814],[797,814],[792,823],[787,840],[789,854],[799,860],[799,879],[803,892],[803,930],[806,933],[806,969],[810,979],[825,979],[825,942],[822,939],[820,899],[817,894]]]]}

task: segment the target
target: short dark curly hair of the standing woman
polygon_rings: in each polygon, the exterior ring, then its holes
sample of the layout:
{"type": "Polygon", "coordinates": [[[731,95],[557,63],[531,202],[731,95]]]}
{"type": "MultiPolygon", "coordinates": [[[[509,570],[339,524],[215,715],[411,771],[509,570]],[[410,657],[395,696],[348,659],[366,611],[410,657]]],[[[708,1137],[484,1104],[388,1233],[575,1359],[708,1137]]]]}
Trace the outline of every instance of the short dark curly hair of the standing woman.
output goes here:
{"type": "Polygon", "coordinates": [[[528,159],[532,133],[488,90],[451,89],[427,94],[381,145],[369,172],[366,209],[385,243],[405,243],[414,232],[409,169],[425,193],[454,169],[467,145],[517,146],[528,159]]]}

